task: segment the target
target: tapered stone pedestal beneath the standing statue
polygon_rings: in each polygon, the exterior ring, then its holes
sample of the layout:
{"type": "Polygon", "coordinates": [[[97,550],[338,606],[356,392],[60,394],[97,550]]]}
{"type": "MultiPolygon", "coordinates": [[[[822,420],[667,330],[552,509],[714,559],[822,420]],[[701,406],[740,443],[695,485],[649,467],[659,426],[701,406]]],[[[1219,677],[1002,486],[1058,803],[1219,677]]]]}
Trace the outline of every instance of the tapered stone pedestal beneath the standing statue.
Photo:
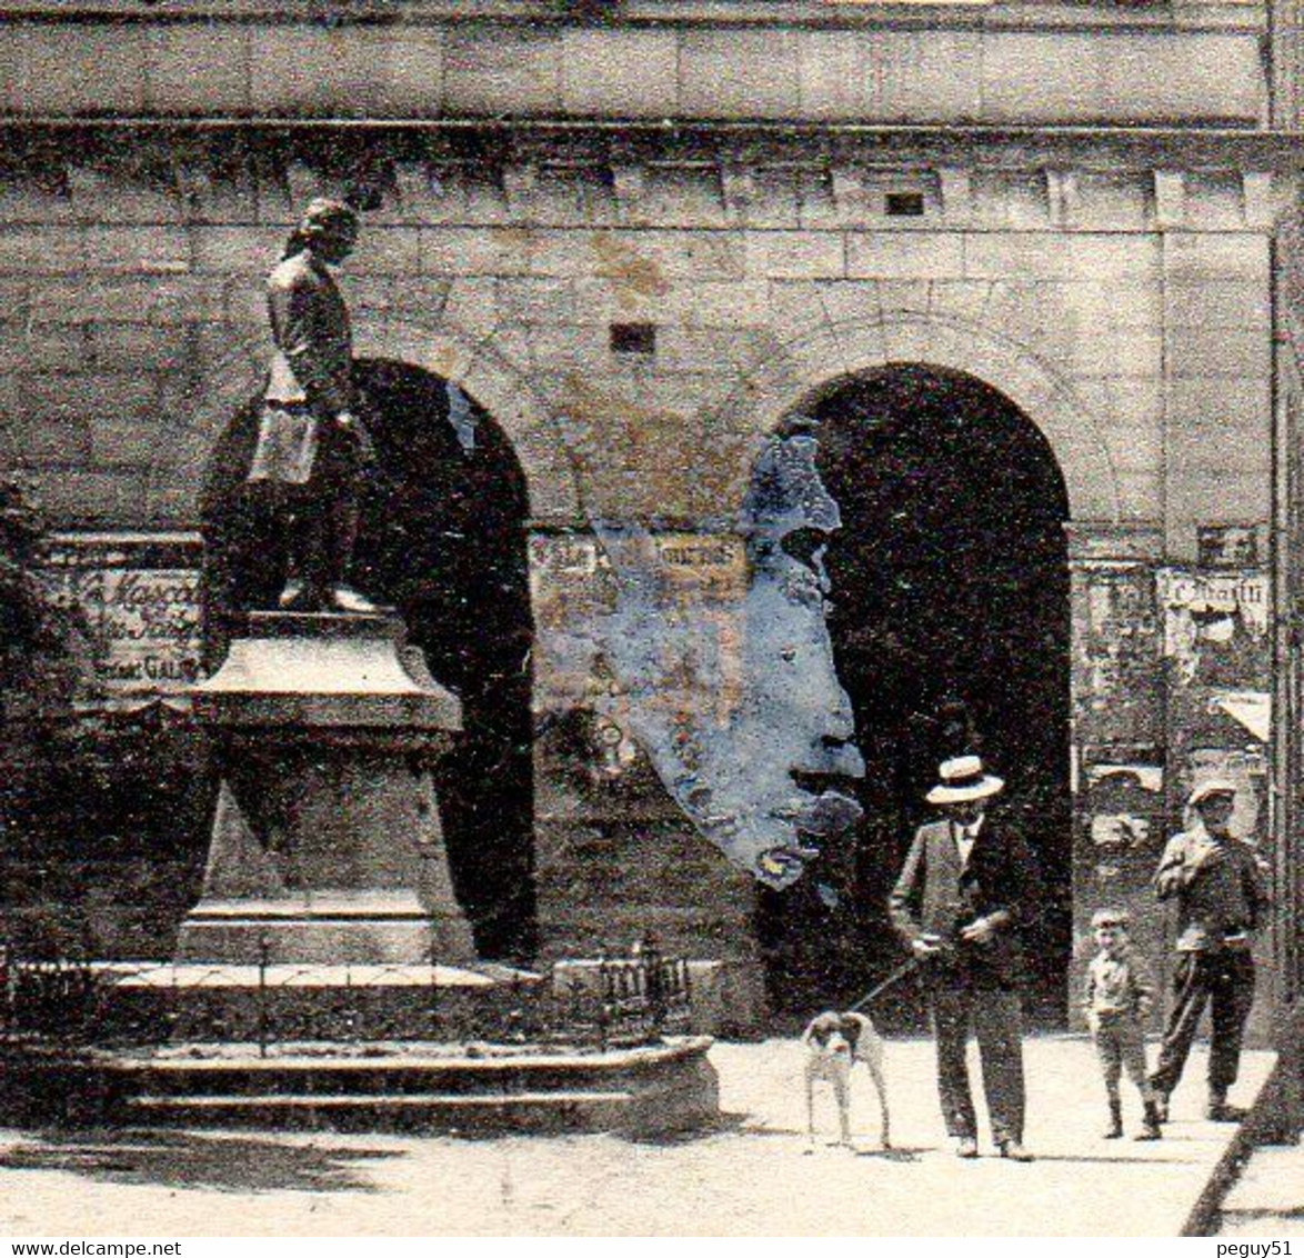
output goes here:
{"type": "Polygon", "coordinates": [[[179,960],[476,959],[429,771],[462,710],[399,620],[254,612],[193,696],[223,782],[179,960]]]}

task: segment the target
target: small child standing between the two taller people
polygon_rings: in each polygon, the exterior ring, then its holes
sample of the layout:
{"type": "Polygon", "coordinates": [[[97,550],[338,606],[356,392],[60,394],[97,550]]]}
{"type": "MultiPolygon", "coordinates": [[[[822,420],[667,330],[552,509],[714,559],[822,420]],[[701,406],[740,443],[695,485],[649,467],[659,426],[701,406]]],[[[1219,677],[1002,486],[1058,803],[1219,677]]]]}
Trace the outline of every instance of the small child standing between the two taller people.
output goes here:
{"type": "Polygon", "coordinates": [[[1091,917],[1091,929],[1099,951],[1091,958],[1086,971],[1082,1004],[1110,1097],[1110,1126],[1104,1138],[1116,1141],[1123,1135],[1119,1075],[1121,1070],[1127,1070],[1145,1104],[1145,1122],[1137,1139],[1157,1141],[1163,1133],[1159,1130],[1159,1111],[1145,1067],[1145,1015],[1154,1002],[1154,980],[1145,962],[1128,944],[1127,912],[1102,908],[1091,917]]]}

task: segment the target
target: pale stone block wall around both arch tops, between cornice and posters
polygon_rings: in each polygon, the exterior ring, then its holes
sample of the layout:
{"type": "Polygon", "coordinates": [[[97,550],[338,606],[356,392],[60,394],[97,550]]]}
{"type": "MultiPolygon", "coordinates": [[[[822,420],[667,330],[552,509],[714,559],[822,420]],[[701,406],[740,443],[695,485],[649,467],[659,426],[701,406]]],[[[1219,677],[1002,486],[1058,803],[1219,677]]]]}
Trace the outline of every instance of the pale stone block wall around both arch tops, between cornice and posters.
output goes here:
{"type": "MultiPolygon", "coordinates": [[[[262,275],[293,206],[338,180],[213,166],[153,192],[112,155],[53,191],[30,168],[4,184],[7,457],[63,525],[193,525],[215,432],[258,386],[262,275]]],[[[1146,171],[404,166],[344,286],[364,352],[498,411],[541,523],[729,515],[806,393],[919,360],[1020,405],[1076,517],[1162,522],[1189,557],[1198,522],[1267,512],[1270,248],[1248,177],[1206,194],[1192,176],[1168,226],[1146,171]],[[885,213],[915,189],[921,215],[885,213]],[[655,325],[655,352],[613,348],[613,324],[655,325]]]]}

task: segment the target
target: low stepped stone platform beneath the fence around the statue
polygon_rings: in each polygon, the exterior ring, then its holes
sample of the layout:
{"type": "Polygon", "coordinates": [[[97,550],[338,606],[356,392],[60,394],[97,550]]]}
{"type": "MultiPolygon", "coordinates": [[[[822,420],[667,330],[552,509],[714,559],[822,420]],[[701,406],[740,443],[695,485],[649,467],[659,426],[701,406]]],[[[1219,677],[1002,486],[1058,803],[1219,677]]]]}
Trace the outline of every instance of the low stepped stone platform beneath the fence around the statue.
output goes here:
{"type": "MultiPolygon", "coordinates": [[[[177,1044],[29,1062],[13,1083],[83,1124],[668,1135],[719,1117],[705,1036],[596,1052],[494,1044],[177,1044]]],[[[48,1117],[48,1116],[47,1116],[48,1117]]]]}

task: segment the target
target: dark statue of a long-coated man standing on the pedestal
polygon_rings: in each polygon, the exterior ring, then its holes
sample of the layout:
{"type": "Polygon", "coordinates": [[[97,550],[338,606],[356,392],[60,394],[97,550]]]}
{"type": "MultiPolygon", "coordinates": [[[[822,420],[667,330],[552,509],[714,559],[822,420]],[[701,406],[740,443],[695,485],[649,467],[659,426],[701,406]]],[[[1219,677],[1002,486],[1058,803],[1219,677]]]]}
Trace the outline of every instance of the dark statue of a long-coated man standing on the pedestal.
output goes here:
{"type": "Polygon", "coordinates": [[[353,386],[348,307],[329,269],[356,240],[357,215],[318,198],[267,277],[276,350],[248,479],[273,488],[288,527],[286,611],[376,611],[346,579],[361,482],[374,452],[353,386]]]}

